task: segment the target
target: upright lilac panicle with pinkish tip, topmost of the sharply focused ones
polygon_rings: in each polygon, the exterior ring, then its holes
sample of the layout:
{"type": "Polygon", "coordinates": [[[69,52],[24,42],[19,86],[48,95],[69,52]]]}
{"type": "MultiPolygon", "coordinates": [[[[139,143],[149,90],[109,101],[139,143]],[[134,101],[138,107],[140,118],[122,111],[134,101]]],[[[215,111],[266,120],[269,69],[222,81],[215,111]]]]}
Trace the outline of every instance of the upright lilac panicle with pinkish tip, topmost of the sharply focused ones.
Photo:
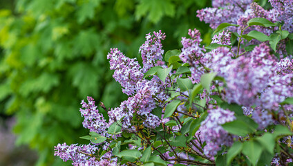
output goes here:
{"type": "Polygon", "coordinates": [[[142,54],[142,63],[144,67],[142,68],[142,72],[146,73],[149,68],[153,67],[156,60],[162,60],[162,55],[164,54],[164,50],[162,49],[161,40],[165,39],[165,34],[159,30],[158,33],[153,32],[146,35],[147,41],[140,46],[139,53],[142,54]]]}

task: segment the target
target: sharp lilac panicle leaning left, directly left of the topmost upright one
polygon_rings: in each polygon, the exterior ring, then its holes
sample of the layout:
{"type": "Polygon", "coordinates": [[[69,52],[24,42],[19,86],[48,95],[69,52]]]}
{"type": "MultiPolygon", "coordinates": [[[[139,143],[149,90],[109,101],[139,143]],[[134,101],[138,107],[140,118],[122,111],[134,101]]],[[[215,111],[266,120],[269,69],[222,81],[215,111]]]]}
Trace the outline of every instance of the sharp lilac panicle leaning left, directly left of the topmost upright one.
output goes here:
{"type": "Polygon", "coordinates": [[[113,77],[124,88],[122,88],[123,93],[133,95],[136,83],[144,76],[140,70],[140,64],[135,58],[131,59],[123,55],[117,48],[111,48],[107,59],[110,59],[110,69],[115,70],[113,77]]]}

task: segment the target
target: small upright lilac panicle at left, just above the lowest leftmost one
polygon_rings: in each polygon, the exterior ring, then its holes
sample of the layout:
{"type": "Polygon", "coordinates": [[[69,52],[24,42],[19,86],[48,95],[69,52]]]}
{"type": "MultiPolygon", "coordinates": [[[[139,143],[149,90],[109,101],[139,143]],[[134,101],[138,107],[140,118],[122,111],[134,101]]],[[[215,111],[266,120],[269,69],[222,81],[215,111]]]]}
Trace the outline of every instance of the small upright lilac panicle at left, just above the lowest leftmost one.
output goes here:
{"type": "Polygon", "coordinates": [[[106,122],[104,116],[99,113],[97,106],[95,106],[95,101],[93,98],[88,96],[88,104],[82,100],[82,109],[79,109],[80,113],[84,117],[84,122],[82,122],[84,128],[90,129],[90,131],[95,131],[105,136],[106,129],[108,129],[108,123],[106,122]]]}

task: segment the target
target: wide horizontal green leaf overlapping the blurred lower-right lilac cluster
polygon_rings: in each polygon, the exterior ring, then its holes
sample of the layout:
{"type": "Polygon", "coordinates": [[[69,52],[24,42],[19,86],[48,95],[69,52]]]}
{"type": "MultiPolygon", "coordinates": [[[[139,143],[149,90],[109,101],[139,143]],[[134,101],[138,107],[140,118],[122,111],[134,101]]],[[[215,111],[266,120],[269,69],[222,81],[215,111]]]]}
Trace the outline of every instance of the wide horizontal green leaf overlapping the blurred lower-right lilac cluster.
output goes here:
{"type": "Polygon", "coordinates": [[[248,133],[256,131],[254,127],[249,126],[249,124],[247,124],[243,120],[234,120],[232,122],[227,122],[225,124],[222,124],[222,127],[229,133],[237,136],[246,136],[248,133]]]}

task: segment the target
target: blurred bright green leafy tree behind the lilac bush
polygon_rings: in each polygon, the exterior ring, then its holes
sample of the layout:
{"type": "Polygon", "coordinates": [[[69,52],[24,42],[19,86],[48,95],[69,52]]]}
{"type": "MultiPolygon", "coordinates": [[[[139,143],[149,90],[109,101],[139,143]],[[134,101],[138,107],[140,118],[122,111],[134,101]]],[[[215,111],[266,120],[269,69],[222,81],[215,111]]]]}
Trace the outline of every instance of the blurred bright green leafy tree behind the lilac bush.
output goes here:
{"type": "Polygon", "coordinates": [[[110,48],[141,61],[145,34],[160,29],[164,50],[181,48],[189,28],[210,42],[209,27],[196,17],[209,0],[0,0],[0,6],[0,115],[16,117],[16,143],[37,150],[36,165],[64,165],[53,156],[58,142],[86,143],[79,139],[88,133],[79,102],[87,95],[108,108],[126,99],[108,69],[110,48]]]}

